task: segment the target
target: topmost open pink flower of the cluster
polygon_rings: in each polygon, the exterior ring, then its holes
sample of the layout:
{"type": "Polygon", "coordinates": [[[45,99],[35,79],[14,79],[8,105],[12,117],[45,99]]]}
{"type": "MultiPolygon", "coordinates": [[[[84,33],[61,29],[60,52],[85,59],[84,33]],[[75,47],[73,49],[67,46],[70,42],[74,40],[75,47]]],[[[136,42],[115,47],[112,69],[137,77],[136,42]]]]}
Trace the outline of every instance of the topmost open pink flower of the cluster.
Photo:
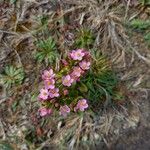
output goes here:
{"type": "Polygon", "coordinates": [[[85,53],[83,52],[82,49],[78,49],[78,50],[73,50],[70,53],[70,56],[73,60],[82,60],[82,58],[85,56],[85,53]]]}

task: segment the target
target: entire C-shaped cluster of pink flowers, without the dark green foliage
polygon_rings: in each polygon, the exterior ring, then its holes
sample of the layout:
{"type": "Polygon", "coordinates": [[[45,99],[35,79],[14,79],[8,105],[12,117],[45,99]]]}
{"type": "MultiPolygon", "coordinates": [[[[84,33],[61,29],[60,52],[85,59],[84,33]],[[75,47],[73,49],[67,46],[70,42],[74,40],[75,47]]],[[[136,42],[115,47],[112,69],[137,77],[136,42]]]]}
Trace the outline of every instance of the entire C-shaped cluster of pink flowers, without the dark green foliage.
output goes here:
{"type": "Polygon", "coordinates": [[[52,107],[59,110],[60,115],[66,117],[71,111],[84,111],[88,108],[86,99],[69,105],[65,104],[63,98],[69,96],[69,88],[72,84],[80,81],[80,78],[90,69],[90,54],[83,49],[72,50],[68,60],[62,60],[61,70],[54,73],[53,69],[45,70],[42,74],[44,88],[40,90],[39,99],[44,107],[39,109],[41,116],[52,114],[52,107]],[[65,69],[67,71],[64,71],[65,69]],[[50,107],[52,106],[52,107],[50,107]]]}

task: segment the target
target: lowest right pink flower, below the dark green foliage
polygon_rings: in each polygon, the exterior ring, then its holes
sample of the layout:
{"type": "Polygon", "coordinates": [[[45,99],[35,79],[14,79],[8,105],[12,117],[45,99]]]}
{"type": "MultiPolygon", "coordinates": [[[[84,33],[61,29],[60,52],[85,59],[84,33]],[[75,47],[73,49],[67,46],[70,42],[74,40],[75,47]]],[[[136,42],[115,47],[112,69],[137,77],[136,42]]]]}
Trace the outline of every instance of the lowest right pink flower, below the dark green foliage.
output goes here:
{"type": "Polygon", "coordinates": [[[78,101],[77,106],[74,108],[74,110],[80,110],[84,111],[84,109],[88,108],[87,100],[86,99],[81,99],[78,101]]]}

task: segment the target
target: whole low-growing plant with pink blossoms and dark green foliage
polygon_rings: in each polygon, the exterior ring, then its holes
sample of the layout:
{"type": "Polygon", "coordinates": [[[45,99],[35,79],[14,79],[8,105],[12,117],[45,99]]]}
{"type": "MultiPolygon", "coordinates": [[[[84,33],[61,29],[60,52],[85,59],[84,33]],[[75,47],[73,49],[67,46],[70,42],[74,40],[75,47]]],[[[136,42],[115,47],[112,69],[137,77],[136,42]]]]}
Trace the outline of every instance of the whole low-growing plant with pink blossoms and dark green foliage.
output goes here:
{"type": "Polygon", "coordinates": [[[109,103],[115,97],[116,75],[105,57],[97,51],[92,52],[72,50],[62,60],[59,71],[54,73],[51,67],[43,72],[44,87],[39,94],[41,116],[53,110],[67,116],[71,111],[84,111],[89,104],[95,107],[109,103]]]}

